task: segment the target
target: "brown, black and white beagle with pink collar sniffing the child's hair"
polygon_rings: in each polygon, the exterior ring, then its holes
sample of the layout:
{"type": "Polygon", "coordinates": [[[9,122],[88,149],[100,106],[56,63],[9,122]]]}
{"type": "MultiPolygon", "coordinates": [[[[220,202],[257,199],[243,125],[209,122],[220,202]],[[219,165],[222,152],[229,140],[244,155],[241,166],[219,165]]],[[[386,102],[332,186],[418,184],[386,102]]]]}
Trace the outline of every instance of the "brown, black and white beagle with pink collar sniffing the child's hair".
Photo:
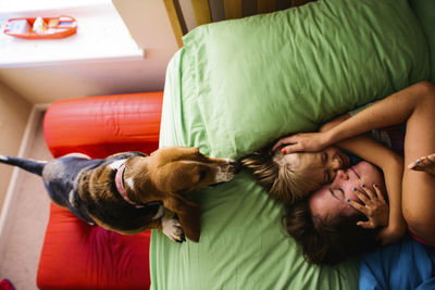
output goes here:
{"type": "Polygon", "coordinates": [[[211,159],[197,148],[182,147],[104,160],[79,153],[49,162],[0,155],[0,163],[41,176],[55,204],[91,225],[121,234],[159,229],[178,242],[185,241],[184,236],[199,241],[199,205],[186,196],[231,180],[238,167],[233,160],[211,159]]]}

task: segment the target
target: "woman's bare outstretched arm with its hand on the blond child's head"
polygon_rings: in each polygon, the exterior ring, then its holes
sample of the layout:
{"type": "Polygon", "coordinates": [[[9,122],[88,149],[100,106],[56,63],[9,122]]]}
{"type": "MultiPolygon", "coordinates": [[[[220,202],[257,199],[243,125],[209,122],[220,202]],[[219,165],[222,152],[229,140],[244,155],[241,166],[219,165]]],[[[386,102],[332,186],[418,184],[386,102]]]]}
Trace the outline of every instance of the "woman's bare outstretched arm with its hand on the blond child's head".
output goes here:
{"type": "Polygon", "coordinates": [[[419,97],[427,93],[432,86],[427,81],[410,86],[374,103],[330,130],[297,134],[283,138],[273,147],[273,150],[289,143],[283,149],[286,153],[320,151],[327,146],[369,130],[405,123],[414,110],[419,97]]]}

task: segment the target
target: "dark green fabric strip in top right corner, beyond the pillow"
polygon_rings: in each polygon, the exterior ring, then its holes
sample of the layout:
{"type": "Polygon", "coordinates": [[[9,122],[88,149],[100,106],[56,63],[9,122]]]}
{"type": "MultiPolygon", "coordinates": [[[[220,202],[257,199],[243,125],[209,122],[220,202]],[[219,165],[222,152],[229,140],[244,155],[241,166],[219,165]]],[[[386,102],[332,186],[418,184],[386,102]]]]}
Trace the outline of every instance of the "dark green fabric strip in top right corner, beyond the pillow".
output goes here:
{"type": "Polygon", "coordinates": [[[427,39],[431,59],[431,81],[435,84],[435,1],[409,0],[427,39]]]}

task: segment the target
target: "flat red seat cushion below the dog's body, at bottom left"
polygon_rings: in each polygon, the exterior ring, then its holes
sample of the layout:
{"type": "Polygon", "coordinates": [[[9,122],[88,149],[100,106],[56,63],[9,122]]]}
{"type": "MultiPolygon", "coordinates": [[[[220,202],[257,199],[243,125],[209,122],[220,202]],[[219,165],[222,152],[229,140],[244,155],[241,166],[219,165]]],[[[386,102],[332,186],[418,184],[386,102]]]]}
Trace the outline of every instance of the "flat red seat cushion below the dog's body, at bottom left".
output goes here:
{"type": "Polygon", "coordinates": [[[39,289],[149,289],[150,231],[120,235],[51,204],[39,289]]]}

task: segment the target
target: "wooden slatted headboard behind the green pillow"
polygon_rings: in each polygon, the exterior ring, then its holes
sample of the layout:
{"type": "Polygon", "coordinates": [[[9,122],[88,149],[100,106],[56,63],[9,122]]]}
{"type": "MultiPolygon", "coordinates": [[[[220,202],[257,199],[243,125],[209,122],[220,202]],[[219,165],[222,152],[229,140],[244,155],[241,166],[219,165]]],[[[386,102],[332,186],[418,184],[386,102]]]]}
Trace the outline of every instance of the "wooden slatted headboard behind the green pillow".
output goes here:
{"type": "Polygon", "coordinates": [[[178,47],[183,47],[182,38],[188,33],[185,21],[188,13],[185,13],[187,9],[183,9],[186,5],[190,5],[196,26],[199,26],[300,7],[312,1],[315,0],[163,0],[178,47]]]}

